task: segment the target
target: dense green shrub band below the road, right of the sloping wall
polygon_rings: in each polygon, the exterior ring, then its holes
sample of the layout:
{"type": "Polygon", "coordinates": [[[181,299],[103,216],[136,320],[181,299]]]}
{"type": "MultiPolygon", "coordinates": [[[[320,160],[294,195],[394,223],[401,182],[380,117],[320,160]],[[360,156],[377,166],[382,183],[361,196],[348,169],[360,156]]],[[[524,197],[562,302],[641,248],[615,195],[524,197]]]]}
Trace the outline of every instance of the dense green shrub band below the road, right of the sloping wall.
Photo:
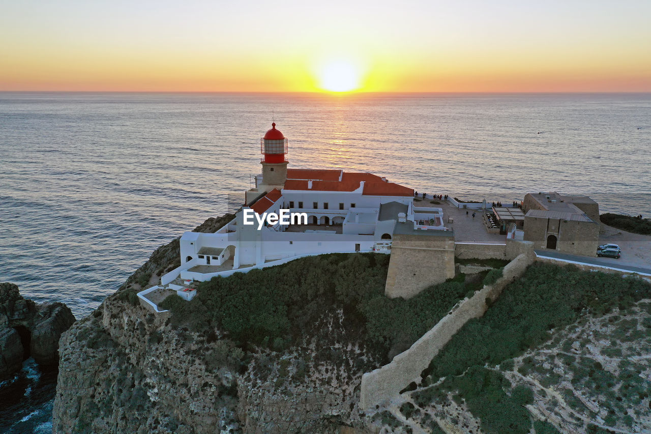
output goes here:
{"type": "MultiPolygon", "coordinates": [[[[643,280],[535,263],[481,318],[471,319],[432,360],[434,378],[469,366],[499,364],[549,339],[551,328],[574,323],[585,311],[602,315],[622,297],[651,295],[643,280]]],[[[568,351],[571,342],[566,342],[568,351]]]]}

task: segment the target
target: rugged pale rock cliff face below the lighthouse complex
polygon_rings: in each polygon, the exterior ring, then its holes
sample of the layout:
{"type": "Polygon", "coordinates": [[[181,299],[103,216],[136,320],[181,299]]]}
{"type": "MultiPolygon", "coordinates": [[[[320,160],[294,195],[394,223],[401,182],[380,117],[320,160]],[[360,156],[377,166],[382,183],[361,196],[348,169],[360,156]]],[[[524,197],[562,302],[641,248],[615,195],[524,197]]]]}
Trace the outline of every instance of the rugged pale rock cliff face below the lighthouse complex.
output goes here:
{"type": "Polygon", "coordinates": [[[290,349],[243,351],[220,330],[190,332],[130,298],[177,259],[174,240],[64,334],[55,433],[366,432],[359,383],[380,357],[347,336],[341,311],[324,310],[319,331],[290,349]]]}

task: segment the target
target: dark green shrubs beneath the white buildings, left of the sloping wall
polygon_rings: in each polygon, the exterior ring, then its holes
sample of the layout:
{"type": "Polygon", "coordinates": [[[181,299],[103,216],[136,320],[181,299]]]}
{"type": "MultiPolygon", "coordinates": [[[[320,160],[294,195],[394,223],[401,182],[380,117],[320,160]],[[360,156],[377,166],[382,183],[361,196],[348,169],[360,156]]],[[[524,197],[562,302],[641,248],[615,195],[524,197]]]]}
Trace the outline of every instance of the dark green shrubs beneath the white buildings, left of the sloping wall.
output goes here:
{"type": "MultiPolygon", "coordinates": [[[[456,280],[416,297],[384,295],[389,256],[378,253],[305,257],[277,267],[203,282],[190,302],[171,295],[161,308],[196,331],[218,329],[241,343],[282,349],[311,334],[324,311],[344,312],[347,330],[385,350],[411,345],[473,288],[456,280]]],[[[477,285],[475,283],[475,285],[477,285]]]]}

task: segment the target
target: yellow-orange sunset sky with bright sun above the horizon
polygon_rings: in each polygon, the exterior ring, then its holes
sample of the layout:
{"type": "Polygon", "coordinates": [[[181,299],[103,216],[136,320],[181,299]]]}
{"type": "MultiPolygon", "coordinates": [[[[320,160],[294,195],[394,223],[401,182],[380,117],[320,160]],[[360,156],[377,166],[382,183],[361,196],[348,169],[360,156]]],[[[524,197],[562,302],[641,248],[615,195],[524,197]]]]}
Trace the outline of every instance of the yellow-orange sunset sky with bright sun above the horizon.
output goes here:
{"type": "Polygon", "coordinates": [[[651,91],[651,1],[0,0],[0,91],[651,91]]]}

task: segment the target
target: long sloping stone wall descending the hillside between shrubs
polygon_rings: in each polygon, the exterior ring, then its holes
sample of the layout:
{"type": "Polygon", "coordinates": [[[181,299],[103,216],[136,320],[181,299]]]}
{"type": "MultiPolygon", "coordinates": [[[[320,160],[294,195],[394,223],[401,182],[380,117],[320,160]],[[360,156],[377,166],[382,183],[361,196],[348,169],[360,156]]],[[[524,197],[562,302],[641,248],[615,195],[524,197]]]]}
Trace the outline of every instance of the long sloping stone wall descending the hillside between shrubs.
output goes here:
{"type": "Polygon", "coordinates": [[[426,332],[407,351],[395,356],[391,363],[365,373],[361,381],[359,408],[374,407],[399,394],[400,390],[412,381],[420,381],[422,371],[429,366],[450,338],[469,319],[484,315],[487,309],[486,299],[497,299],[504,287],[521,276],[533,261],[531,255],[518,255],[504,267],[503,276],[497,282],[484,286],[473,297],[456,304],[434,328],[426,332]]]}

